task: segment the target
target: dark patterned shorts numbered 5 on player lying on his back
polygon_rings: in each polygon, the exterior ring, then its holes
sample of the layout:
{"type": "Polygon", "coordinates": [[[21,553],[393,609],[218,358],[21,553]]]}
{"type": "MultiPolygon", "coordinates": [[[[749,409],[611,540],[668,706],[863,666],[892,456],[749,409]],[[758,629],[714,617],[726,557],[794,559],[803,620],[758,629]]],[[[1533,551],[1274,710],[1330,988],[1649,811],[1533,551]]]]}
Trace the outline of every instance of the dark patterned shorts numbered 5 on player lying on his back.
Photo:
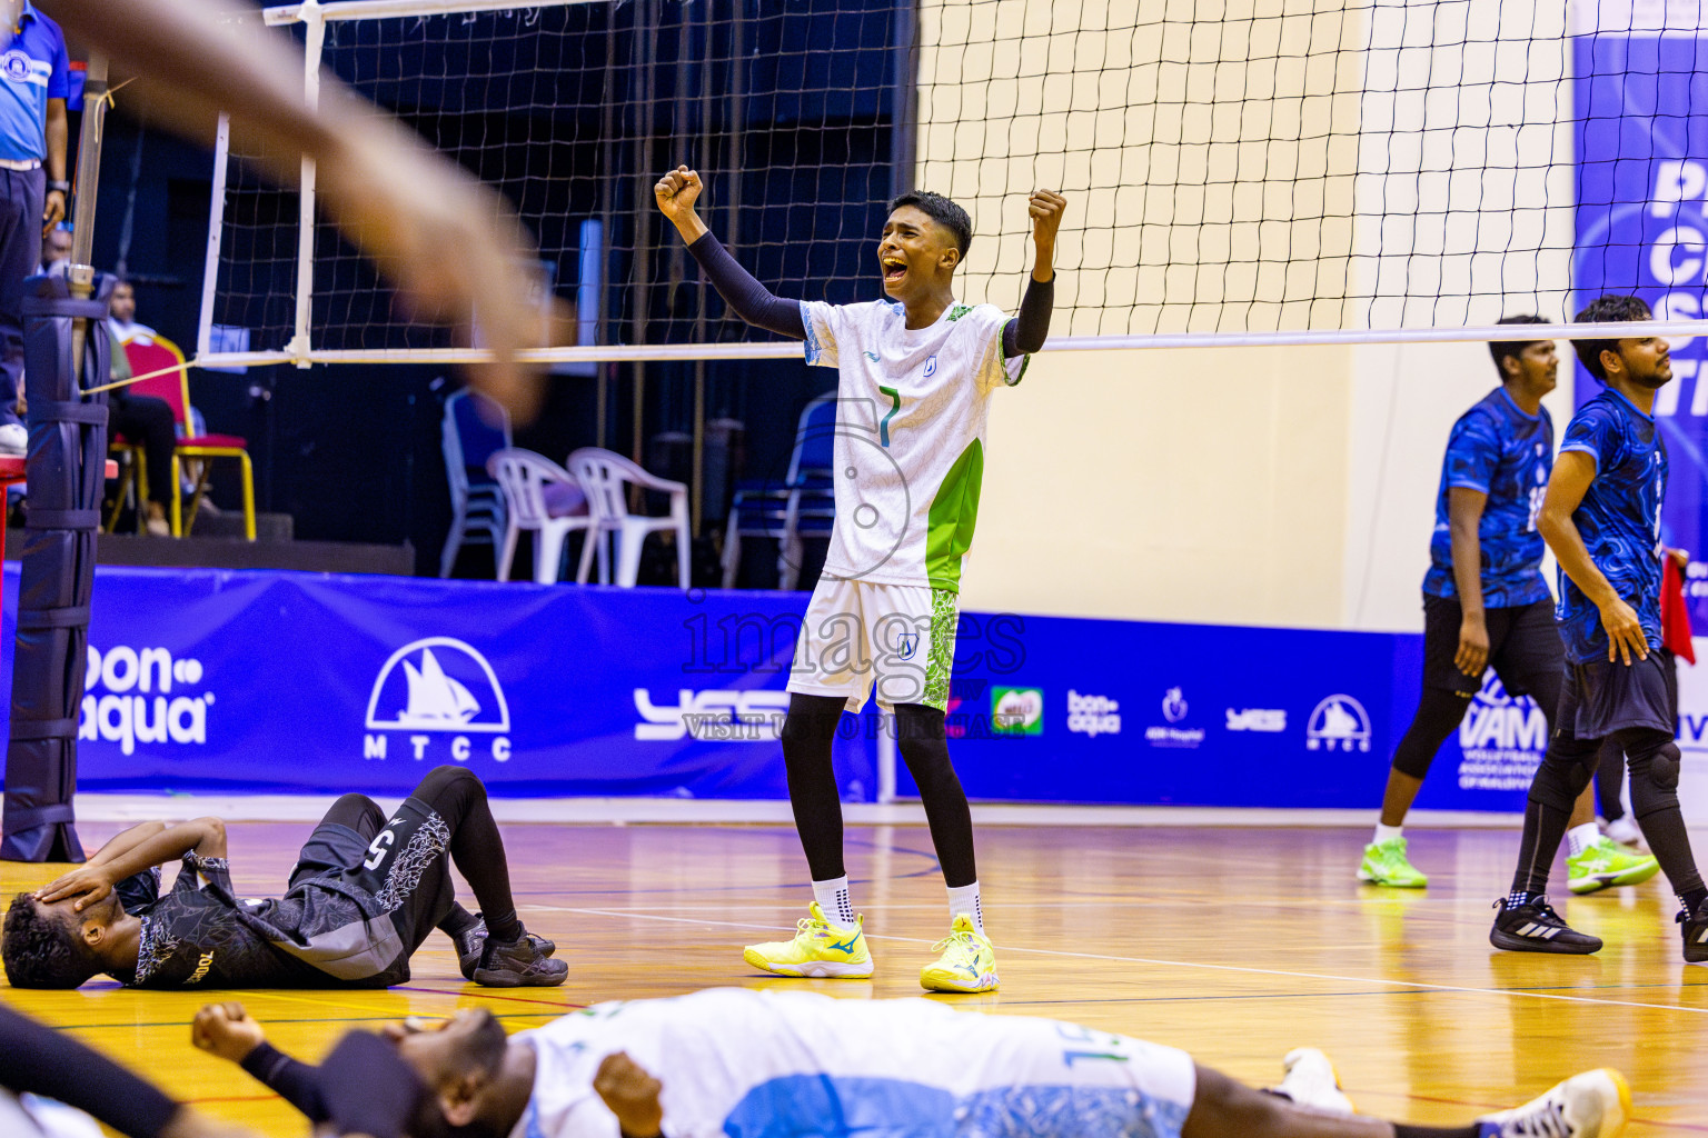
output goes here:
{"type": "Polygon", "coordinates": [[[297,955],[345,981],[408,979],[410,954],[456,901],[449,839],[444,819],[417,798],[405,798],[372,841],[338,822],[316,826],[290,870],[285,897],[306,903],[311,928],[301,932],[311,942],[336,942],[340,959],[330,964],[313,952],[297,955]],[[343,904],[316,904],[309,894],[343,904]],[[336,932],[352,920],[362,933],[336,932]]]}

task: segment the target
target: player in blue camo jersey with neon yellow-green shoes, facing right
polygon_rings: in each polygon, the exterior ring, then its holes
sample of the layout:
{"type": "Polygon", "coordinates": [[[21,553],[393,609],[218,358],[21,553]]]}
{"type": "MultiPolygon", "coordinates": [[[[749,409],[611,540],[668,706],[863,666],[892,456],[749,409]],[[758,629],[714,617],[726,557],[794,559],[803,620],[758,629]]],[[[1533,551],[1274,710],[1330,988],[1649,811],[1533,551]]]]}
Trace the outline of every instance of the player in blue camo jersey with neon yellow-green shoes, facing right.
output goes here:
{"type": "MultiPolygon", "coordinates": [[[[1510,316],[1501,324],[1542,324],[1510,316]]],[[[1402,826],[1430,763],[1459,727],[1493,667],[1508,694],[1530,694],[1549,718],[1559,703],[1561,645],[1542,580],[1535,514],[1554,462],[1554,421],[1542,396],[1556,384],[1553,340],[1489,345],[1501,386],[1459,416],[1447,438],[1442,488],[1423,578],[1423,698],[1394,749],[1382,817],[1365,846],[1358,880],[1423,889],[1428,877],[1406,856],[1402,826]]],[[[1655,875],[1653,858],[1604,839],[1585,792],[1571,819],[1571,885],[1594,892],[1655,875]]]]}

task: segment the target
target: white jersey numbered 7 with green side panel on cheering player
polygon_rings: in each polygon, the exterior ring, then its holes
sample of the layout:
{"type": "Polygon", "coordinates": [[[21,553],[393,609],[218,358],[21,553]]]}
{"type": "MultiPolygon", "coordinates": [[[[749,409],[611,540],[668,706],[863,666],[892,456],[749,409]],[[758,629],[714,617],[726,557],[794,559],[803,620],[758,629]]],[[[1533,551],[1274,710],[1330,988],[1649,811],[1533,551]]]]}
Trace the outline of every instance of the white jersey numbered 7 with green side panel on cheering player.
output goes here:
{"type": "Polygon", "coordinates": [[[874,585],[960,592],[979,520],[991,392],[1027,357],[1003,358],[1008,314],[950,304],[907,328],[892,300],[801,302],[806,362],[837,380],[835,498],[825,572],[874,585]]]}

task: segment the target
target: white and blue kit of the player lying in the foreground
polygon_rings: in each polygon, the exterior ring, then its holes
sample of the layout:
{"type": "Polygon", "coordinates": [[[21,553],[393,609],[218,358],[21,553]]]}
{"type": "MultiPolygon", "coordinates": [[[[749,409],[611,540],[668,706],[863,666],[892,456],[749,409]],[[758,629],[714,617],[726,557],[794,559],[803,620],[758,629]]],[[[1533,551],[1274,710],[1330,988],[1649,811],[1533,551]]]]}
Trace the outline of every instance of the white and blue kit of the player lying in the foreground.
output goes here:
{"type": "Polygon", "coordinates": [[[1184,1051],[927,1000],[712,988],[601,1003],[516,1041],[535,1049],[511,1138],[618,1138],[593,1090],[618,1051],[661,1083],[666,1138],[1179,1138],[1184,1051]]]}

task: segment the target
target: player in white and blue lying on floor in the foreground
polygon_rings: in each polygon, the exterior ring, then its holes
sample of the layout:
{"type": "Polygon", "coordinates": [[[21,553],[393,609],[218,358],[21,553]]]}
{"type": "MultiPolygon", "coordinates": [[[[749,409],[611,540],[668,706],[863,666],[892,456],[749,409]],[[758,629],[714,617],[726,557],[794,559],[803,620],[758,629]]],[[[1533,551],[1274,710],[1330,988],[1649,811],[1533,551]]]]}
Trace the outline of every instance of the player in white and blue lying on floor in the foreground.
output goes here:
{"type": "MultiPolygon", "coordinates": [[[[1631,1109],[1624,1078],[1597,1070],[1464,1126],[1407,1126],[1354,1116],[1320,1051],[1291,1053],[1261,1092],[1076,1024],[745,988],[601,1003],[514,1037],[485,1008],[384,1034],[424,1083],[417,1138],[1614,1138],[1631,1109]]],[[[325,1111],[325,1068],[268,1046],[241,1005],[202,1008],[191,1037],[325,1111]]]]}

